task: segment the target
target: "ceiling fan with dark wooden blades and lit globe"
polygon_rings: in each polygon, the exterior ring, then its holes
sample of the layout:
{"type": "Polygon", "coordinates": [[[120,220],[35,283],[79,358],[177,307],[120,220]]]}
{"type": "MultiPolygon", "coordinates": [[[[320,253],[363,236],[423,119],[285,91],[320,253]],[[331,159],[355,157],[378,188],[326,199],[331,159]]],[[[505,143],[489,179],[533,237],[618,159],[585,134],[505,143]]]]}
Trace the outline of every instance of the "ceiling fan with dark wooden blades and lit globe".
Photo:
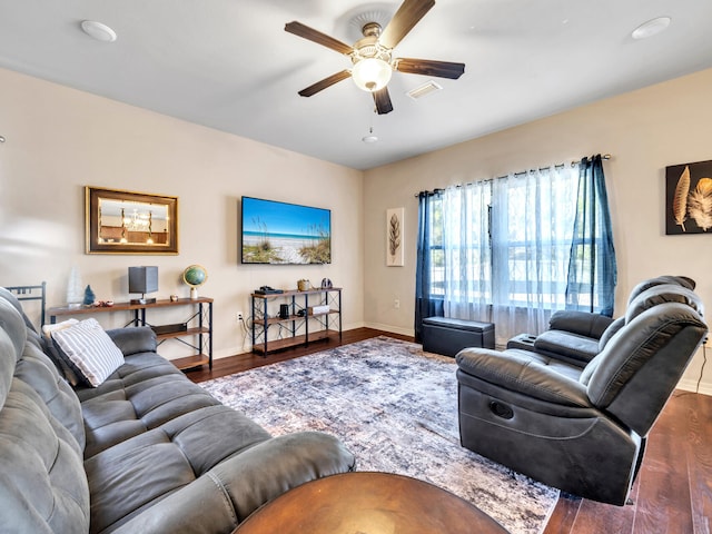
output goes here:
{"type": "Polygon", "coordinates": [[[334,83],[352,78],[360,89],[373,93],[376,112],[385,115],[393,111],[387,85],[394,70],[456,80],[465,71],[465,63],[393,56],[393,49],[433,6],[435,0],[405,0],[385,28],[382,29],[378,22],[364,24],[364,38],[353,47],[301,22],[288,22],[285,24],[285,31],[348,56],[354,63],[352,69],[342,70],[301,89],[299,95],[310,97],[334,83]]]}

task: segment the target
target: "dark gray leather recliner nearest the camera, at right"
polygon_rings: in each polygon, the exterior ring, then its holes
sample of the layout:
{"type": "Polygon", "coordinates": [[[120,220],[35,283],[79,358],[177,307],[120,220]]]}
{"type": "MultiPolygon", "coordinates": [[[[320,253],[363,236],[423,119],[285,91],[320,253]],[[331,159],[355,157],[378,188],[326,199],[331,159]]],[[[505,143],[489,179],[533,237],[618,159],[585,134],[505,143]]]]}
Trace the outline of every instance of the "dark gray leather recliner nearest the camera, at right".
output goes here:
{"type": "Polygon", "coordinates": [[[457,354],[464,447],[565,492],[625,504],[645,438],[708,334],[699,297],[654,285],[581,367],[536,350],[457,354]]]}

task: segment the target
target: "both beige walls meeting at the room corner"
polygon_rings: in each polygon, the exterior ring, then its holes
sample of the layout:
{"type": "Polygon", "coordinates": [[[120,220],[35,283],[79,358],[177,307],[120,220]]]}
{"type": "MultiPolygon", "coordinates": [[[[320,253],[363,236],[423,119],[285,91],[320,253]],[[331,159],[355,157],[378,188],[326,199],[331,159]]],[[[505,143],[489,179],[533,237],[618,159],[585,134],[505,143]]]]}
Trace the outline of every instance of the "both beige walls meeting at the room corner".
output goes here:
{"type": "MultiPolygon", "coordinates": [[[[640,279],[680,273],[712,303],[710,236],[664,235],[664,169],[712,159],[712,70],[603,100],[365,174],[248,139],[0,70],[0,268],[3,285],[47,280],[61,305],[72,266],[97,298],[128,298],[127,267],[158,265],[159,297],[188,295],[180,273],[202,264],[216,299],[216,356],[249,349],[235,316],[249,293],[329,277],[344,287],[344,325],[413,334],[414,194],[584,155],[605,164],[619,259],[617,310],[640,279]],[[83,254],[83,186],[180,198],[178,256],[83,254]],[[318,191],[329,190],[322,197],[318,191]],[[241,195],[332,209],[329,266],[243,266],[241,195]],[[405,267],[385,267],[385,212],[405,207],[405,267]],[[395,307],[395,301],[399,307],[395,307]]],[[[620,313],[620,312],[619,312],[620,313]]],[[[172,320],[162,317],[161,320],[172,320]]],[[[123,317],[105,317],[119,326],[123,317]]],[[[181,320],[176,317],[176,322],[181,320]]],[[[159,320],[160,322],[160,320],[159,320]]],[[[180,355],[165,348],[168,356],[180,355]]],[[[702,354],[683,387],[693,388],[702,354]]],[[[712,378],[701,390],[712,393],[712,378]]]]}

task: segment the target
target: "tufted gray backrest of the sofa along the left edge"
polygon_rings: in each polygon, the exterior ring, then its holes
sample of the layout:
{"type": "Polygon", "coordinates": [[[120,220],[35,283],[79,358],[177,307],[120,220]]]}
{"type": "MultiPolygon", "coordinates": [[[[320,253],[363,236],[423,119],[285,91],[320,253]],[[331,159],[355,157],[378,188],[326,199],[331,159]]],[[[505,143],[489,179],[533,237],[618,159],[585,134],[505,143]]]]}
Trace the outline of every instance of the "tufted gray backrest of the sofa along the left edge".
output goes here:
{"type": "Polygon", "coordinates": [[[81,424],[81,416],[71,390],[58,390],[67,385],[29,343],[29,332],[20,312],[0,298],[0,530],[88,532],[81,447],[58,418],[81,424]]]}

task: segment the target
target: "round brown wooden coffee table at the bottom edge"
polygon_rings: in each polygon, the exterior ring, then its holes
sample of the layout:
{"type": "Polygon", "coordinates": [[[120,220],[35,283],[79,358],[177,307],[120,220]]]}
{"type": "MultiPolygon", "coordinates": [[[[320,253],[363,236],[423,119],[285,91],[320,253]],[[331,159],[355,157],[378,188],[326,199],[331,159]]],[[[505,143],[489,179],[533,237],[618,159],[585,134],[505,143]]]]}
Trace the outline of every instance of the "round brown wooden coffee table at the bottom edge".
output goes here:
{"type": "Polygon", "coordinates": [[[234,534],[506,534],[483,511],[427,482],[389,473],[345,473],[267,503],[234,534]]]}

